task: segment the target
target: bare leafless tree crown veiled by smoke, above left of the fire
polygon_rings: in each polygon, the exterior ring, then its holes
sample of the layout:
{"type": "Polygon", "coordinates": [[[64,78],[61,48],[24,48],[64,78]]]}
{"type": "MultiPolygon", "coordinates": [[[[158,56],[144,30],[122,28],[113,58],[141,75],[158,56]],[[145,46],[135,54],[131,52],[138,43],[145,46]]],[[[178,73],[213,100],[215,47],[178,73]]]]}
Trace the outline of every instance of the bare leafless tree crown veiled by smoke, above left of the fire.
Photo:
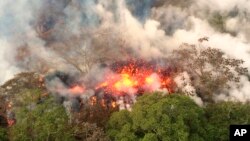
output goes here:
{"type": "Polygon", "coordinates": [[[117,56],[127,57],[131,51],[128,52],[125,46],[125,39],[110,28],[86,31],[79,36],[49,45],[51,51],[59,57],[57,60],[71,66],[82,75],[98,63],[121,60],[117,56]]]}

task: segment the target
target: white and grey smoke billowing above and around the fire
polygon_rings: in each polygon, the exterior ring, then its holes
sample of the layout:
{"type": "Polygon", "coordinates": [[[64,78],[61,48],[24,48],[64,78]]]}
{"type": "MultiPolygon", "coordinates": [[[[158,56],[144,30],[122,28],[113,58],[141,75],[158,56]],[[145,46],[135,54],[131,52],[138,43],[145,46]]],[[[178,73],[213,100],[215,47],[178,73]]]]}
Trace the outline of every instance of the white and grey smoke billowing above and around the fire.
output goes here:
{"type": "MultiPolygon", "coordinates": [[[[248,0],[16,0],[14,4],[3,0],[0,82],[18,71],[61,70],[80,79],[67,84],[61,83],[65,82],[61,76],[55,77],[49,83],[55,86],[51,91],[59,87],[63,95],[81,93],[83,83],[95,87],[104,81],[110,68],[100,66],[142,59],[167,68],[173,49],[183,42],[200,44],[197,39],[204,36],[209,42],[200,47],[219,48],[243,59],[250,69],[249,6],[248,0]]],[[[161,87],[158,75],[150,74],[157,81],[149,86],[154,90],[161,87]]],[[[188,93],[191,90],[196,98],[189,74],[173,77],[177,87],[188,93]]],[[[215,99],[247,101],[249,88],[247,76],[242,76],[240,87],[215,99]]],[[[94,95],[93,90],[87,91],[94,95]]]]}

